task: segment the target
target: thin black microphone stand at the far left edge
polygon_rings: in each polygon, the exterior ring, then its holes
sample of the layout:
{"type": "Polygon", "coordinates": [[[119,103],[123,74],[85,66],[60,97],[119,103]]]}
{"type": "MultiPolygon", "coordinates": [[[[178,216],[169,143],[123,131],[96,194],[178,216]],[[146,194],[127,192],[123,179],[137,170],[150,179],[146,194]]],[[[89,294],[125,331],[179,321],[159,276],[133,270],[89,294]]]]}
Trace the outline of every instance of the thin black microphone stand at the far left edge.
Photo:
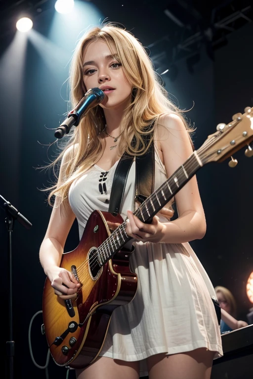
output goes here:
{"type": "Polygon", "coordinates": [[[6,341],[6,351],[9,358],[9,379],[14,378],[14,355],[15,341],[13,341],[13,309],[12,309],[12,241],[11,233],[14,227],[14,221],[17,220],[25,228],[30,229],[32,224],[16,209],[9,201],[0,195],[0,207],[6,213],[6,227],[8,233],[8,279],[9,279],[9,341],[6,341]]]}

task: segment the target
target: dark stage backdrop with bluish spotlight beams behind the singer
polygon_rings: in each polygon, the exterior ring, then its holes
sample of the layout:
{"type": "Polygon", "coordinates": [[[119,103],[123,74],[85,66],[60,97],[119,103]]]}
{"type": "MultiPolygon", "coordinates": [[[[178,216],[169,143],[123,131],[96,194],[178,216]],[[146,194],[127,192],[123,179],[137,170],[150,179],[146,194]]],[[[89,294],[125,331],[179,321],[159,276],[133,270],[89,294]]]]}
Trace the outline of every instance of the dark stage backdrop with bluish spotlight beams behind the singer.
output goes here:
{"type": "MultiPolygon", "coordinates": [[[[65,81],[79,34],[99,19],[108,18],[124,24],[139,38],[149,48],[158,73],[169,69],[161,77],[172,100],[181,109],[191,109],[187,115],[197,128],[196,148],[216,131],[218,123],[229,123],[233,114],[253,106],[251,1],[206,1],[205,5],[161,0],[80,3],[84,13],[80,12],[77,20],[65,17],[62,21],[60,16],[55,19],[54,1],[0,2],[0,194],[33,224],[27,230],[15,223],[12,233],[14,364],[15,378],[19,379],[45,378],[45,371],[32,362],[28,342],[31,319],[42,310],[45,275],[39,248],[51,212],[40,190],[48,186],[49,176],[37,168],[49,163],[56,152],[54,147],[48,150],[54,132],[47,128],[55,128],[67,112],[65,81]],[[34,15],[33,35],[27,40],[15,35],[15,20],[22,7],[34,15]],[[172,21],[165,9],[182,25],[172,21]]],[[[238,319],[247,321],[253,306],[246,295],[246,282],[253,271],[253,158],[247,158],[244,150],[235,154],[238,165],[233,169],[225,161],[197,173],[207,233],[191,245],[213,285],[225,286],[234,294],[238,319]]],[[[1,370],[8,363],[4,352],[9,338],[4,219],[0,209],[1,370]]],[[[75,223],[66,251],[77,244],[75,223]]],[[[44,366],[47,345],[41,325],[40,313],[31,326],[31,343],[35,361],[44,366]]],[[[48,372],[49,378],[65,378],[67,373],[51,358],[48,372]]],[[[69,377],[74,378],[74,373],[69,377]]]]}

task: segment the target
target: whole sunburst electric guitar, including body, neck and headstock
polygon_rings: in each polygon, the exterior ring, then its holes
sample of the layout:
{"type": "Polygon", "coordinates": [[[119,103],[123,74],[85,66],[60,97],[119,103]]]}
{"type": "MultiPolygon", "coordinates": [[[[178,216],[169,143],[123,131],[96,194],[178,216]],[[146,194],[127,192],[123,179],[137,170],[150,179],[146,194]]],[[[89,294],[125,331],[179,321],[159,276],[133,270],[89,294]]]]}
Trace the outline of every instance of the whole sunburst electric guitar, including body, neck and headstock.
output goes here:
{"type": "MultiPolygon", "coordinates": [[[[253,108],[235,114],[229,124],[219,124],[217,132],[153,192],[134,212],[144,223],[210,162],[221,162],[247,146],[253,156],[253,108]]],[[[232,157],[231,157],[232,158],[232,157]]],[[[229,166],[236,165],[232,158],[229,166]]],[[[71,271],[81,287],[75,300],[61,300],[54,294],[48,278],[42,296],[42,315],[46,340],[53,360],[59,366],[84,368],[98,356],[108,331],[112,312],[129,303],[137,290],[136,274],[129,268],[130,253],[124,251],[129,241],[126,221],[121,216],[94,211],[90,215],[78,247],[64,253],[61,267],[71,271]],[[107,221],[120,223],[112,233],[107,221]]]]}

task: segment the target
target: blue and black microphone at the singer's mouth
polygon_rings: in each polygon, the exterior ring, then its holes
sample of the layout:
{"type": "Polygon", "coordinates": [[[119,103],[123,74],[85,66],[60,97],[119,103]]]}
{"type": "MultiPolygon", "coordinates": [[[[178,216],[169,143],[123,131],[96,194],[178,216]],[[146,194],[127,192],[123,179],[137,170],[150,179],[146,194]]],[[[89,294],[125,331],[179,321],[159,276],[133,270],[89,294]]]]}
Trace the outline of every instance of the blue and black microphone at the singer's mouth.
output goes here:
{"type": "Polygon", "coordinates": [[[68,134],[73,125],[78,126],[80,119],[90,108],[100,104],[107,96],[99,88],[90,88],[79,101],[76,107],[69,112],[67,118],[56,129],[54,136],[62,138],[64,134],[68,134]]]}

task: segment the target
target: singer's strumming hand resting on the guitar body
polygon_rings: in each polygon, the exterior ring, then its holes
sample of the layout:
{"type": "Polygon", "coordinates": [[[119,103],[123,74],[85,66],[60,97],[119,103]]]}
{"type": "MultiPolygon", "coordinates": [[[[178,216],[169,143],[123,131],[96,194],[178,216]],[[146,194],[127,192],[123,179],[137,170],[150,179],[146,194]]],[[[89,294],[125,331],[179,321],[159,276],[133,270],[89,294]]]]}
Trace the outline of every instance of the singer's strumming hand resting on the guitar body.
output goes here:
{"type": "Polygon", "coordinates": [[[47,271],[47,277],[51,282],[55,295],[63,300],[76,297],[81,284],[70,271],[63,267],[52,266],[47,271]]]}

